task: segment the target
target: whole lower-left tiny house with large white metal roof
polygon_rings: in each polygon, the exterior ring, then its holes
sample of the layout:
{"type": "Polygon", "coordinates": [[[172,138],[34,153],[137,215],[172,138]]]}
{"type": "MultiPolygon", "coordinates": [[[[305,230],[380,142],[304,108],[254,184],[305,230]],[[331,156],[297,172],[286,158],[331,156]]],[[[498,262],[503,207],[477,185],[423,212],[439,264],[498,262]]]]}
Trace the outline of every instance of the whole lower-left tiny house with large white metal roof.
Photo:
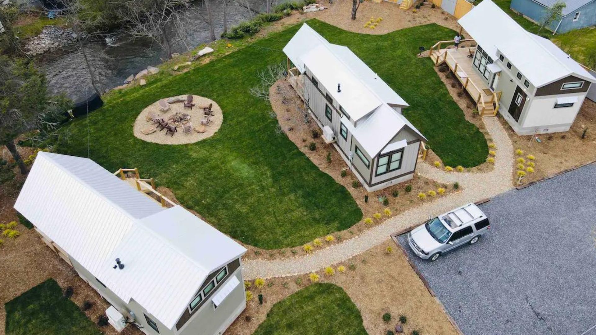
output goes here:
{"type": "Polygon", "coordinates": [[[40,152],[14,208],[112,305],[116,330],[221,335],[246,308],[246,249],[163,204],[90,159],[40,152]]]}

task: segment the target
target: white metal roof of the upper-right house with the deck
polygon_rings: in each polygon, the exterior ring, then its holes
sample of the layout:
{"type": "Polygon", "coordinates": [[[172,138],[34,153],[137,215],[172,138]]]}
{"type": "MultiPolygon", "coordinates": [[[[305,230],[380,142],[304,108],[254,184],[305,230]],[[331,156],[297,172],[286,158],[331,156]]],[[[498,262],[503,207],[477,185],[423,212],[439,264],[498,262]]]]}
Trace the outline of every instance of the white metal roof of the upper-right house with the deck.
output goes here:
{"type": "Polygon", "coordinates": [[[497,50],[501,51],[536,87],[570,75],[596,82],[556,45],[527,32],[491,0],[480,2],[458,23],[494,60],[497,50]]]}

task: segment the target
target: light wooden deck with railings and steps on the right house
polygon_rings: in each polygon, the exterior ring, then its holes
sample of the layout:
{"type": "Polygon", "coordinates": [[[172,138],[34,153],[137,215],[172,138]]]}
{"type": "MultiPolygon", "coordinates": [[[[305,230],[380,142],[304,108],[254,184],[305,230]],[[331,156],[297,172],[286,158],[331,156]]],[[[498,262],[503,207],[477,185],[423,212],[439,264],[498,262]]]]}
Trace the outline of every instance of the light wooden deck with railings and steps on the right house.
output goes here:
{"type": "Polygon", "coordinates": [[[473,60],[468,55],[473,55],[475,48],[440,49],[442,43],[448,42],[451,41],[438,42],[430,49],[430,58],[433,60],[434,65],[439,66],[445,63],[449,67],[449,70],[460,81],[462,89],[465,89],[476,102],[476,108],[481,116],[495,116],[499,109],[501,92],[491,91],[483,78],[474,70],[473,60]]]}

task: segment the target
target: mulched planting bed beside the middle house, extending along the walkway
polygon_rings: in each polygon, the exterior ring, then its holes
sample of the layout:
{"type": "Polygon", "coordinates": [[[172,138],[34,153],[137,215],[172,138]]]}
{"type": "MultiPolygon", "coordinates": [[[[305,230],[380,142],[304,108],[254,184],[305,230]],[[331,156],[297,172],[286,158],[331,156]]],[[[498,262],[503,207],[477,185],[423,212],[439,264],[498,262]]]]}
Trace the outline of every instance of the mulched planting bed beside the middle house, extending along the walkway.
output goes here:
{"type": "MultiPolygon", "coordinates": [[[[318,247],[327,247],[331,244],[341,243],[392,216],[405,212],[405,210],[432,201],[436,197],[445,196],[457,191],[454,189],[454,185],[440,184],[431,179],[419,176],[418,173],[414,173],[414,178],[409,181],[392,185],[383,190],[368,192],[358,182],[356,176],[347,170],[346,162],[333,145],[325,144],[320,137],[321,129],[316,125],[311,114],[306,112],[302,100],[300,100],[300,97],[287,80],[281,79],[275,83],[271,87],[269,94],[271,106],[275,111],[274,114],[271,114],[271,117],[277,117],[280,123],[278,128],[279,135],[286,135],[322,172],[330,175],[338,184],[342,184],[352,194],[352,197],[363,213],[364,219],[351,228],[331,233],[330,235],[333,237],[333,240],[327,241],[324,236],[321,236],[319,237],[321,246],[311,243],[315,250],[318,247]],[[317,138],[313,138],[313,132],[318,134],[317,138]],[[311,143],[315,143],[315,150],[310,150],[309,145],[311,143]],[[345,176],[342,176],[342,171],[346,173],[345,176]],[[354,182],[356,184],[353,184],[354,182]],[[410,190],[409,192],[406,191],[408,186],[410,187],[408,188],[410,190]],[[443,195],[438,193],[439,188],[445,190],[443,195]],[[429,191],[434,191],[436,194],[431,196],[429,191]],[[426,194],[426,198],[420,200],[418,193],[426,194]],[[368,201],[365,201],[365,196],[368,196],[368,201]],[[387,205],[383,204],[383,198],[387,199],[387,205]],[[386,209],[389,209],[389,212],[385,213],[386,209]],[[374,218],[375,213],[380,214],[380,218],[374,218]],[[365,218],[371,218],[373,222],[367,224],[365,218]]],[[[246,259],[279,259],[287,256],[305,255],[302,246],[278,250],[263,250],[253,246],[247,246],[246,244],[243,245],[249,250],[244,256],[246,259]]]]}

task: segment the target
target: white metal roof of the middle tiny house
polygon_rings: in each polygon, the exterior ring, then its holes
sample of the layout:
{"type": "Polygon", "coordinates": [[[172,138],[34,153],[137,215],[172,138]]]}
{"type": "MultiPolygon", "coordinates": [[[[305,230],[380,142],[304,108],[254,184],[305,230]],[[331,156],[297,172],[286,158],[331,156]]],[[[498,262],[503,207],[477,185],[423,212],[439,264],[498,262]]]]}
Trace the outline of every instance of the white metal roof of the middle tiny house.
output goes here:
{"type": "Polygon", "coordinates": [[[342,118],[371,156],[376,156],[404,127],[426,140],[405,116],[389,106],[408,107],[408,103],[346,46],[330,44],[303,24],[284,52],[301,73],[308,67],[350,119],[357,122],[356,129],[342,118]],[[337,92],[338,83],[341,92],[337,92]]]}

